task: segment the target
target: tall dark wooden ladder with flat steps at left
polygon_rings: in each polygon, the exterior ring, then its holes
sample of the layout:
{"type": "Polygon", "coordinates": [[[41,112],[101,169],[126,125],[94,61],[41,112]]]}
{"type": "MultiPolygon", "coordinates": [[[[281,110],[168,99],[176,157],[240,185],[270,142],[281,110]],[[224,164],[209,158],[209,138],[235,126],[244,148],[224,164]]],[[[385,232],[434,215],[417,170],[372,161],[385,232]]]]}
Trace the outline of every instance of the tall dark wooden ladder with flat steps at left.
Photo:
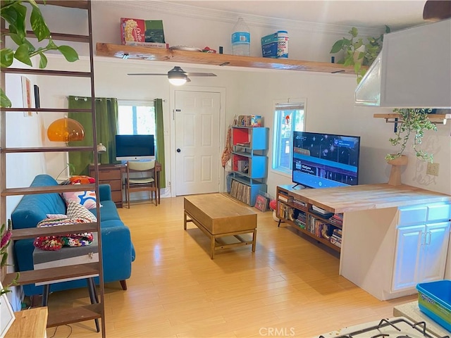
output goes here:
{"type": "MultiPolygon", "coordinates": [[[[44,4],[44,1],[37,1],[39,4],[44,4]]],[[[78,72],[68,70],[45,70],[45,69],[22,69],[22,68],[1,68],[1,85],[5,89],[5,73],[20,74],[20,75],[45,75],[45,76],[58,76],[58,77],[86,77],[90,80],[90,89],[92,97],[92,109],[80,110],[77,112],[87,111],[92,114],[92,127],[96,130],[96,116],[94,110],[94,46],[92,42],[92,11],[91,1],[45,1],[46,6],[63,6],[66,8],[80,8],[85,9],[87,13],[87,35],[70,35],[52,32],[51,36],[55,40],[61,40],[66,42],[84,42],[89,44],[89,71],[78,72]]],[[[5,27],[5,23],[1,22],[1,32],[8,32],[5,27]]],[[[32,32],[27,32],[27,36],[32,37],[32,32]]],[[[2,39],[1,48],[4,48],[5,42],[2,39]]],[[[71,109],[68,108],[26,108],[27,111],[37,113],[69,113],[71,109]]],[[[6,220],[6,197],[27,195],[27,194],[47,194],[47,193],[61,193],[61,192],[76,192],[80,191],[80,185],[66,185],[66,186],[54,186],[54,187],[9,187],[6,189],[6,154],[28,154],[28,153],[47,153],[58,151],[88,151],[92,152],[94,157],[94,164],[97,167],[97,135],[94,132],[92,134],[93,144],[92,146],[41,146],[41,147],[6,147],[6,113],[23,113],[24,108],[0,108],[0,222],[3,224],[6,220]]],[[[96,179],[99,173],[95,170],[96,179]]],[[[99,183],[96,180],[95,184],[85,184],[83,186],[86,190],[95,189],[97,196],[99,196],[99,183]]],[[[100,214],[99,199],[97,199],[97,215],[100,214]]],[[[73,232],[97,232],[100,234],[100,220],[98,218],[96,223],[80,223],[76,225],[62,225],[59,227],[35,227],[22,230],[15,230],[13,225],[12,240],[30,239],[38,236],[45,235],[58,235],[67,234],[73,232]]],[[[42,270],[28,270],[20,271],[20,277],[18,284],[32,284],[37,282],[49,282],[54,280],[61,280],[64,278],[87,278],[93,275],[99,276],[99,302],[93,303],[87,306],[68,306],[67,309],[51,311],[49,308],[49,316],[47,320],[47,327],[54,327],[58,325],[65,325],[68,323],[77,323],[85,320],[94,320],[101,318],[101,335],[106,337],[105,332],[105,309],[104,309],[104,278],[102,268],[102,255],[101,255],[101,236],[97,236],[97,243],[99,246],[99,261],[94,263],[85,263],[78,265],[63,266],[60,268],[47,268],[42,270]]],[[[2,270],[2,284],[10,283],[15,277],[16,273],[4,274],[2,270]]],[[[99,327],[98,327],[99,330],[99,327]]]]}

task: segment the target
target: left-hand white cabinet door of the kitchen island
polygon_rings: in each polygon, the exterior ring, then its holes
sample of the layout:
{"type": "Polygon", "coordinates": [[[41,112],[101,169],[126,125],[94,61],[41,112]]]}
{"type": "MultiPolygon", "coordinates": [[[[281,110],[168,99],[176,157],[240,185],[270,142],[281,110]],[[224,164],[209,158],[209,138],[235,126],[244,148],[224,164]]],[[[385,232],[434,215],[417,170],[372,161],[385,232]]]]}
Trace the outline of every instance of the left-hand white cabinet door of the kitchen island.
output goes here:
{"type": "Polygon", "coordinates": [[[416,286],[425,239],[424,230],[424,225],[411,225],[397,229],[392,291],[416,286]]]}

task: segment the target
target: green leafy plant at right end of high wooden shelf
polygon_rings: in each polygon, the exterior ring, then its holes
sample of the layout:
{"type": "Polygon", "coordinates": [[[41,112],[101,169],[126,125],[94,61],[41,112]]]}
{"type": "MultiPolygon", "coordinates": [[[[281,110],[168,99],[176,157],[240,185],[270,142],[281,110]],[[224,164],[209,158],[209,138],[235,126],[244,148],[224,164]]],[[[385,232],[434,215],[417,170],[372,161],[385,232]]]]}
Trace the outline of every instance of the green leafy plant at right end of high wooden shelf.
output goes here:
{"type": "MultiPolygon", "coordinates": [[[[390,32],[390,27],[385,25],[385,33],[390,32]]],[[[367,68],[362,66],[369,66],[376,59],[381,52],[383,43],[383,34],[379,37],[369,37],[366,39],[366,43],[361,37],[358,37],[359,30],[356,27],[352,27],[349,31],[351,37],[347,39],[343,37],[333,44],[330,49],[330,54],[344,51],[344,56],[338,63],[343,65],[354,65],[354,71],[357,75],[357,84],[360,83],[364,77],[367,68]]]]}

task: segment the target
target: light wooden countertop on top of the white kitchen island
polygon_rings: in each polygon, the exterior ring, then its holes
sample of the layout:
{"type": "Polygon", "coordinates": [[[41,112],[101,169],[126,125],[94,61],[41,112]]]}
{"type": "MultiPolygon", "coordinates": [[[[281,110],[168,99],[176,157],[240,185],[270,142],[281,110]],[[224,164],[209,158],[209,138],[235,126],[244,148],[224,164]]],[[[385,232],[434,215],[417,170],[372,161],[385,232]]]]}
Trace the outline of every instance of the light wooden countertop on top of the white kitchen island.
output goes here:
{"type": "Polygon", "coordinates": [[[451,201],[450,195],[405,184],[397,187],[383,183],[299,190],[292,189],[290,186],[280,187],[283,189],[288,187],[288,190],[298,194],[300,199],[307,200],[309,204],[314,204],[332,213],[451,201]]]}

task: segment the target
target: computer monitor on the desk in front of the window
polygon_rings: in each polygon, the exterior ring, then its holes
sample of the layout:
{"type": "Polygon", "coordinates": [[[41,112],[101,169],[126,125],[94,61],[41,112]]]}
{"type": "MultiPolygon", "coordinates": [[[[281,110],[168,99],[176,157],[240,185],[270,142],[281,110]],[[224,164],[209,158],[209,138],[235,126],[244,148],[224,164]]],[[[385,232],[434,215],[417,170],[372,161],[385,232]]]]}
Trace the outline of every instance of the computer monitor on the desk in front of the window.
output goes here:
{"type": "Polygon", "coordinates": [[[154,135],[116,135],[116,161],[154,159],[154,135]]]}

